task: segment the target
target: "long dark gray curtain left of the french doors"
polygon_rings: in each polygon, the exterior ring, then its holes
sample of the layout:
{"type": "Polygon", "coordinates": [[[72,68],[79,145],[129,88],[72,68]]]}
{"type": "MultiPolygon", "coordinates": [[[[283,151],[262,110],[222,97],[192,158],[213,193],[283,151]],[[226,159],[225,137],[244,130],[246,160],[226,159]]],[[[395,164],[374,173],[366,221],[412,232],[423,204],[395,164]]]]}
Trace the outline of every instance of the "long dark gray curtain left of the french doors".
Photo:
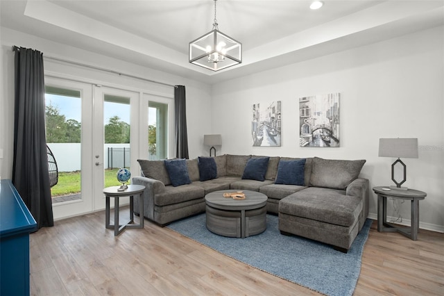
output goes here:
{"type": "Polygon", "coordinates": [[[38,228],[54,225],[44,126],[44,71],[40,51],[15,47],[12,183],[38,228]]]}

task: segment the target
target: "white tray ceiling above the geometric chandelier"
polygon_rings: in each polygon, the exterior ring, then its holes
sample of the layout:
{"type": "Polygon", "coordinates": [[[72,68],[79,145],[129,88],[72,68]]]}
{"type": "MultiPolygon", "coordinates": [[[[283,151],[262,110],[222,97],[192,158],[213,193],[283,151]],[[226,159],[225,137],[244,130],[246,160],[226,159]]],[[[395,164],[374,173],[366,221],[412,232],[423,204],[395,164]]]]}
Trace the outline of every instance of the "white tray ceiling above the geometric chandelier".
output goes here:
{"type": "Polygon", "coordinates": [[[443,0],[310,3],[217,1],[219,30],[243,46],[243,63],[220,72],[188,63],[188,43],[212,29],[212,0],[0,0],[0,24],[205,83],[444,24],[443,0]]]}

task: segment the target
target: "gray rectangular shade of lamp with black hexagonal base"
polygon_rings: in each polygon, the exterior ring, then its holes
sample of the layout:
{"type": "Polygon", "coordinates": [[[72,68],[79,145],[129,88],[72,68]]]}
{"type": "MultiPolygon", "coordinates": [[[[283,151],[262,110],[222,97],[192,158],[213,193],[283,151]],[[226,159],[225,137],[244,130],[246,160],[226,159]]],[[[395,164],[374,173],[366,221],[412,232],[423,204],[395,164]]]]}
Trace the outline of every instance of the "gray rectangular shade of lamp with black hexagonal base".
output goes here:
{"type": "Polygon", "coordinates": [[[396,158],[418,158],[417,138],[379,139],[379,156],[396,158]]]}

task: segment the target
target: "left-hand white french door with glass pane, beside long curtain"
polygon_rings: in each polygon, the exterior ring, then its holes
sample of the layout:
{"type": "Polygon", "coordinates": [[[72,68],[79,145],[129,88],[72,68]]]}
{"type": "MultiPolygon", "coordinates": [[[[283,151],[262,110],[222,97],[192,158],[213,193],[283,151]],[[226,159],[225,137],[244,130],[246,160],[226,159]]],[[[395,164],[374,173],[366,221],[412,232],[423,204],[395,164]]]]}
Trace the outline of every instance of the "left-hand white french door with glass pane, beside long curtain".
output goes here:
{"type": "Polygon", "coordinates": [[[85,142],[91,136],[92,87],[45,78],[46,142],[56,159],[58,183],[51,188],[55,219],[92,211],[92,174],[85,142]]]}

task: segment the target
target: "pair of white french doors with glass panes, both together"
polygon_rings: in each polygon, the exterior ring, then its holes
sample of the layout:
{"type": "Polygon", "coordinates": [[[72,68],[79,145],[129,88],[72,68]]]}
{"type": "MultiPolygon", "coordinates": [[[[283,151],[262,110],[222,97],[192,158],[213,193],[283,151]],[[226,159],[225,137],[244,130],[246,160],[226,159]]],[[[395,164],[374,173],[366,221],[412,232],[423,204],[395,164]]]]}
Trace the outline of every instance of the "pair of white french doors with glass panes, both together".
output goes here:
{"type": "Polygon", "coordinates": [[[137,174],[138,139],[147,138],[138,124],[139,97],[139,92],[45,77],[46,142],[59,171],[51,188],[54,219],[105,208],[103,188],[119,185],[119,167],[137,174]]]}

